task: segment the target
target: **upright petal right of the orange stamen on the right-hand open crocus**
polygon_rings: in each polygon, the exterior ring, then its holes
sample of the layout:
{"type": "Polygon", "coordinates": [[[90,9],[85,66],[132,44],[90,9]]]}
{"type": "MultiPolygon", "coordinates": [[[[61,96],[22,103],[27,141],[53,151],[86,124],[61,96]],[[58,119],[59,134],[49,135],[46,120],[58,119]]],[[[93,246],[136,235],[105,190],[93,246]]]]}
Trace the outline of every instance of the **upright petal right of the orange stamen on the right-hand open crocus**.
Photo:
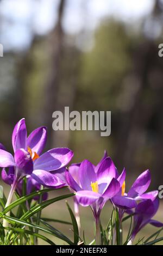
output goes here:
{"type": "Polygon", "coordinates": [[[149,187],[151,183],[151,174],[149,170],[145,170],[139,177],[135,180],[133,186],[130,188],[128,192],[128,197],[136,197],[138,195],[143,194],[149,187]]]}

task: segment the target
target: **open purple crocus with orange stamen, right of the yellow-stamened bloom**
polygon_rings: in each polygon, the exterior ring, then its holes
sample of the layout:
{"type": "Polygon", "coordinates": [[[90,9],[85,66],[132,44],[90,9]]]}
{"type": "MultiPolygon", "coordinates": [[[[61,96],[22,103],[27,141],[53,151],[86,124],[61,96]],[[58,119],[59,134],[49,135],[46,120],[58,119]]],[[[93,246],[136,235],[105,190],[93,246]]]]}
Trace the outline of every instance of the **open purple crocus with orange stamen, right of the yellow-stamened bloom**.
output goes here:
{"type": "Polygon", "coordinates": [[[125,192],[125,181],[123,182],[120,191],[111,198],[114,205],[120,208],[120,220],[127,209],[132,209],[136,207],[136,201],[142,199],[154,200],[158,195],[158,191],[147,192],[147,189],[151,183],[151,174],[149,170],[141,173],[139,177],[135,180],[134,184],[131,186],[128,193],[125,192]]]}

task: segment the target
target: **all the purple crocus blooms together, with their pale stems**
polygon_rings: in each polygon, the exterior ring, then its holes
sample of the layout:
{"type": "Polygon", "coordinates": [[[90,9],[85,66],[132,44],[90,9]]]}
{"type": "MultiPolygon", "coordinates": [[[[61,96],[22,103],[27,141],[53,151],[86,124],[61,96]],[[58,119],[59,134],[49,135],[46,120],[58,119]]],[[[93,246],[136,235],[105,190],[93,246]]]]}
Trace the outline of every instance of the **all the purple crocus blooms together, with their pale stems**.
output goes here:
{"type": "MultiPolygon", "coordinates": [[[[119,174],[106,151],[96,166],[89,160],[84,160],[67,168],[73,152],[68,148],[54,148],[42,153],[46,141],[46,127],[39,127],[27,136],[25,120],[21,119],[12,133],[14,154],[10,154],[0,143],[2,180],[11,186],[6,207],[10,204],[15,190],[22,195],[23,178],[26,176],[27,194],[40,190],[41,185],[54,189],[69,186],[76,193],[74,212],[79,228],[79,205],[90,206],[96,222],[96,244],[101,244],[99,219],[108,201],[118,210],[120,225],[124,213],[134,215],[134,229],[128,244],[133,242],[136,234],[146,224],[163,226],[162,223],[152,220],[158,210],[159,200],[158,191],[146,192],[151,184],[149,170],[141,173],[126,192],[126,169],[119,174]]],[[[46,199],[45,193],[42,200],[46,199]]],[[[7,227],[5,221],[3,224],[7,227]]]]}

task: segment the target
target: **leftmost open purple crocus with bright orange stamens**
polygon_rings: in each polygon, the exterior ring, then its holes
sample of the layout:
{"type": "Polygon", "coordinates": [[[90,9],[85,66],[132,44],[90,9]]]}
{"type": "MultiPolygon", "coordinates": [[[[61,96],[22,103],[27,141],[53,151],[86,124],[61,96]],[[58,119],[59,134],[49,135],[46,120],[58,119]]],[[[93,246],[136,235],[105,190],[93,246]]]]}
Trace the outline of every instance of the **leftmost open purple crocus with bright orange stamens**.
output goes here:
{"type": "MultiPolygon", "coordinates": [[[[46,141],[46,127],[37,128],[27,137],[26,123],[21,119],[12,133],[14,157],[0,149],[0,167],[14,167],[16,181],[25,175],[30,175],[43,186],[54,188],[64,186],[65,182],[50,172],[66,166],[72,159],[73,153],[67,148],[55,148],[41,155],[46,141]]],[[[3,179],[4,176],[7,176],[5,169],[2,173],[3,179]]]]}

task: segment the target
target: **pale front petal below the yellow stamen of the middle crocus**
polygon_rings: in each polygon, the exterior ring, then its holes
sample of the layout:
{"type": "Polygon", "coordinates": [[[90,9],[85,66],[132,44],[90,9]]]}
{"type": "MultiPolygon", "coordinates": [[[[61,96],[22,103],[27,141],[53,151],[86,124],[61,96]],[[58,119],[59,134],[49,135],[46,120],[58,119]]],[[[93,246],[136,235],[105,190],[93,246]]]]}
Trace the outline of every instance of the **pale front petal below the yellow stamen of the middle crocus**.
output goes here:
{"type": "Polygon", "coordinates": [[[96,202],[97,199],[101,194],[90,191],[90,190],[81,190],[76,193],[76,198],[78,200],[78,203],[82,206],[89,206],[92,203],[96,202]]]}

